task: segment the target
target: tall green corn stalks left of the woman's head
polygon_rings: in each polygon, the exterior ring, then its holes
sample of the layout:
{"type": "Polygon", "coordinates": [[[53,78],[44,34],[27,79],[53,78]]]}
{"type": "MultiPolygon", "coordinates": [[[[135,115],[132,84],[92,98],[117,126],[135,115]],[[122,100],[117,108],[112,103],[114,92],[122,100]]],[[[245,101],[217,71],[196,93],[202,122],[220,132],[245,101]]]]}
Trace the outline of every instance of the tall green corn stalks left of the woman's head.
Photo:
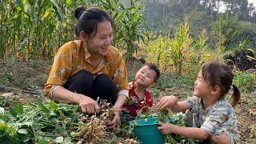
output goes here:
{"type": "Polygon", "coordinates": [[[80,5],[86,2],[1,1],[0,59],[51,58],[55,49],[74,39],[73,12],[80,5]]]}

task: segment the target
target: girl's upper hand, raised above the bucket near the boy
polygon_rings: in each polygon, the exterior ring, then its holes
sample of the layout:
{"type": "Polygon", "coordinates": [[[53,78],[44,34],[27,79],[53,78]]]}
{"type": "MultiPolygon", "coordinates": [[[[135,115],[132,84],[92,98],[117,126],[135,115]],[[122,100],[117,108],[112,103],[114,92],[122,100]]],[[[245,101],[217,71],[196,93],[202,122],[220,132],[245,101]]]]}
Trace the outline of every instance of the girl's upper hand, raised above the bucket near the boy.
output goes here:
{"type": "Polygon", "coordinates": [[[175,96],[165,96],[160,99],[159,109],[164,110],[166,107],[174,106],[178,101],[178,98],[175,96]]]}

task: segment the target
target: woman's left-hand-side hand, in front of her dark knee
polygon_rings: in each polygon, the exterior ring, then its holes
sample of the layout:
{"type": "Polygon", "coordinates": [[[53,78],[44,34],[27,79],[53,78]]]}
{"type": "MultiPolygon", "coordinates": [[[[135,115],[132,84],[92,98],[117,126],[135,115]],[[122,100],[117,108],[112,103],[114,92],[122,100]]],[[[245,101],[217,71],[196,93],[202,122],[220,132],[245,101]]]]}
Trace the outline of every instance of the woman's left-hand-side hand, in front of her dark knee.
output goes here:
{"type": "Polygon", "coordinates": [[[78,101],[78,105],[81,107],[81,110],[83,113],[95,114],[100,112],[100,107],[98,106],[98,102],[94,101],[94,99],[82,94],[79,94],[78,96],[80,97],[80,100],[78,101]]]}

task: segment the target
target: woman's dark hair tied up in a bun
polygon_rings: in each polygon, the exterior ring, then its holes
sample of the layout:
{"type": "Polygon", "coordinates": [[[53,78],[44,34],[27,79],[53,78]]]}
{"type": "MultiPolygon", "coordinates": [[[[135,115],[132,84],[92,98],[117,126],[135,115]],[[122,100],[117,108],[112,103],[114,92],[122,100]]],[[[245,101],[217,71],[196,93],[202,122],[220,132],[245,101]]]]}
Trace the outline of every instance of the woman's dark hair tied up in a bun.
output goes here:
{"type": "Polygon", "coordinates": [[[79,37],[81,31],[84,31],[89,37],[94,37],[100,22],[109,21],[114,29],[114,21],[105,10],[100,8],[91,7],[86,9],[85,6],[78,6],[74,11],[74,16],[77,19],[75,26],[75,35],[77,37],[79,37]]]}

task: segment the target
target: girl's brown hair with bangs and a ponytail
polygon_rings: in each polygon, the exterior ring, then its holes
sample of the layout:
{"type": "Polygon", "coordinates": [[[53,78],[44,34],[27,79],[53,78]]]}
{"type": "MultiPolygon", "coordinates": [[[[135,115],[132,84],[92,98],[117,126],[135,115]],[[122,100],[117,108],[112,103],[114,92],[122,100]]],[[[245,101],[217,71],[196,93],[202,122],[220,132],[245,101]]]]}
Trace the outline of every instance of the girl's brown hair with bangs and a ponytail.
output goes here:
{"type": "Polygon", "coordinates": [[[210,62],[202,66],[202,78],[211,86],[221,87],[221,96],[227,94],[233,86],[232,106],[236,106],[240,100],[240,91],[237,86],[232,85],[234,74],[230,67],[221,62],[210,62]]]}

